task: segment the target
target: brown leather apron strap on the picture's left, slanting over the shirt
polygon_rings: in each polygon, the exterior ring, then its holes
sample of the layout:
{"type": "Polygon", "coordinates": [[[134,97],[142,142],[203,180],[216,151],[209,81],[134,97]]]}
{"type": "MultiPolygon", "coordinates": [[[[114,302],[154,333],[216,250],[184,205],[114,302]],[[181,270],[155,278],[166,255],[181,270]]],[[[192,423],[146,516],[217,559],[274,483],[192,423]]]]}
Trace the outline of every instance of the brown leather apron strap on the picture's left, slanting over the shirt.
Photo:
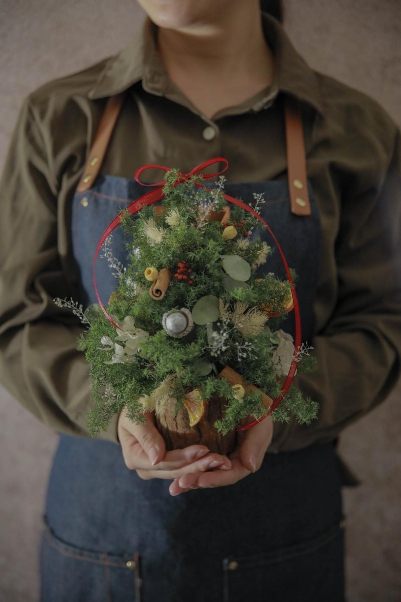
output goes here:
{"type": "Polygon", "coordinates": [[[96,137],[94,138],[87,163],[85,165],[82,178],[76,188],[78,192],[85,192],[90,188],[99,173],[100,167],[102,167],[103,159],[105,158],[106,150],[108,147],[111,134],[117,121],[117,117],[120,114],[120,109],[123,106],[124,98],[126,97],[126,90],[110,96],[106,102],[105,110],[103,111],[102,118],[97,128],[96,137]]]}

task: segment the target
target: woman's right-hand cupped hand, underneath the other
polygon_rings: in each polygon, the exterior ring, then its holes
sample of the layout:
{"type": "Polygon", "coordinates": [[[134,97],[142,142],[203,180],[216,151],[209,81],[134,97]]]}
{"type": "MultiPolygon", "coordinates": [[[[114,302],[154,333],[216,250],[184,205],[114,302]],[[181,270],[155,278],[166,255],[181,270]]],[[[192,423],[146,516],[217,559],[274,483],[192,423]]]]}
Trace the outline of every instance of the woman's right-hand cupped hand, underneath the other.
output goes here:
{"type": "MultiPolygon", "coordinates": [[[[249,419],[243,424],[249,424],[249,419]]],[[[273,421],[270,416],[264,418],[260,423],[248,430],[236,433],[236,448],[228,454],[232,461],[230,470],[215,470],[213,472],[186,471],[186,473],[174,479],[169,491],[171,495],[185,493],[189,489],[204,487],[221,487],[233,485],[243,477],[254,473],[262,466],[266,450],[271,444],[273,436],[273,421]]]]}

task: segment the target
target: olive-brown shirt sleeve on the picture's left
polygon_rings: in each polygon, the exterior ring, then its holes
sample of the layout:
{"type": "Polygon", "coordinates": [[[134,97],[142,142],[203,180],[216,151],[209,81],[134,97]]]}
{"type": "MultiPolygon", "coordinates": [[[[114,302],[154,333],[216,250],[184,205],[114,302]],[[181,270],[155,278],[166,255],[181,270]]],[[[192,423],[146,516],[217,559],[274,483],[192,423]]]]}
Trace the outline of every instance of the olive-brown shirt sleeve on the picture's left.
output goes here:
{"type": "MultiPolygon", "coordinates": [[[[0,179],[0,380],[54,430],[89,437],[93,400],[83,327],[54,297],[67,290],[58,251],[57,181],[29,96],[19,111],[0,179]]],[[[100,439],[117,438],[117,416],[100,439]]]]}

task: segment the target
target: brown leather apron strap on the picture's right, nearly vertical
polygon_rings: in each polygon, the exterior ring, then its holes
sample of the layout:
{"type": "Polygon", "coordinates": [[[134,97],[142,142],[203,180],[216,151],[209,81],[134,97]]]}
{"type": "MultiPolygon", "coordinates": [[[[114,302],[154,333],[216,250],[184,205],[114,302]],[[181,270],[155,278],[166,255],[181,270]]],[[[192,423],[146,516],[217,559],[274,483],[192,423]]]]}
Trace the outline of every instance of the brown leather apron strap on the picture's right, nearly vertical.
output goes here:
{"type": "Polygon", "coordinates": [[[297,216],[310,216],[304,126],[298,101],[286,96],[284,105],[286,123],[287,172],[291,211],[297,216]]]}

